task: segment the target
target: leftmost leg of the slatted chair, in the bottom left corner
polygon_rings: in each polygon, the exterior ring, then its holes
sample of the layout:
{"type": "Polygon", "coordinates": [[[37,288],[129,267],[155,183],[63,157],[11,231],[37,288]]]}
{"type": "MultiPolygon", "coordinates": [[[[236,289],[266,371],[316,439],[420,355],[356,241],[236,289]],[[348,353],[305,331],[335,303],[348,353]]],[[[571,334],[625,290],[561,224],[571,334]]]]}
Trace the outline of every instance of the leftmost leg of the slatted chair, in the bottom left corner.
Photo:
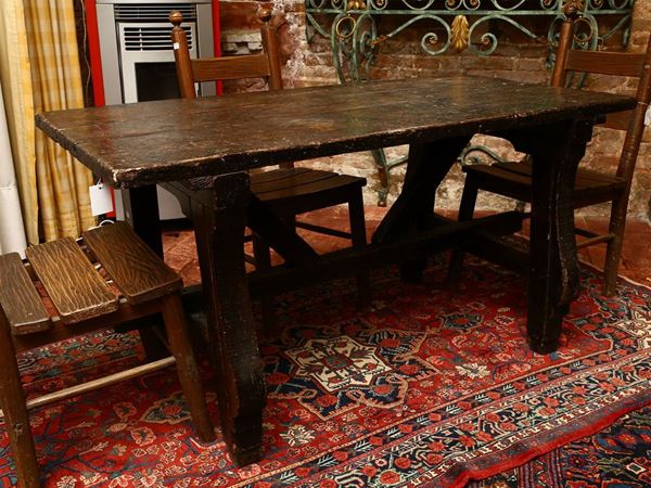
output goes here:
{"type": "Polygon", "coordinates": [[[25,393],[9,324],[2,313],[0,310],[0,406],[4,413],[18,481],[23,488],[38,488],[40,476],[25,393]]]}

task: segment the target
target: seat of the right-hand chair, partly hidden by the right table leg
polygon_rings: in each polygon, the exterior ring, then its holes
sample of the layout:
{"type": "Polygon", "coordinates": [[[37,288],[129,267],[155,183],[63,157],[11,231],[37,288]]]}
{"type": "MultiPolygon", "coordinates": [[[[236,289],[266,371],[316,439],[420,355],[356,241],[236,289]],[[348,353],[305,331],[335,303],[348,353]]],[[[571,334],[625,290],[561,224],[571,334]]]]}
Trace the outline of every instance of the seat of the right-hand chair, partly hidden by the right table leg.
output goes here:
{"type": "MultiPolygon", "coordinates": [[[[532,165],[528,162],[506,162],[493,165],[464,166],[463,171],[477,181],[480,188],[522,202],[532,201],[532,165]]],[[[574,185],[574,207],[579,208],[604,198],[614,198],[626,188],[616,176],[578,168],[574,185]]]]}

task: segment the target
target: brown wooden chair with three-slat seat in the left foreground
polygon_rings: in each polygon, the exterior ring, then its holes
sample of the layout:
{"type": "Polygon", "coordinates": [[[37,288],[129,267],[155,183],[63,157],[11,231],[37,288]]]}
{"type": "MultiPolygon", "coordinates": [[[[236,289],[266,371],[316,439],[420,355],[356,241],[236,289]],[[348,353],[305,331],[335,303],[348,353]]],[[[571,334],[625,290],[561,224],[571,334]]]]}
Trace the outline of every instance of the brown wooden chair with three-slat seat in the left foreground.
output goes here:
{"type": "Polygon", "coordinates": [[[40,486],[29,409],[174,363],[196,434],[203,441],[215,438],[179,297],[180,277],[126,223],[89,230],[84,242],[85,248],[69,237],[29,247],[27,264],[16,253],[0,256],[0,406],[23,488],[40,486]],[[112,285],[89,257],[113,280],[112,285]],[[48,311],[35,281],[41,283],[55,313],[48,311]],[[163,316],[173,357],[25,398],[17,352],[156,313],[163,316]]]}

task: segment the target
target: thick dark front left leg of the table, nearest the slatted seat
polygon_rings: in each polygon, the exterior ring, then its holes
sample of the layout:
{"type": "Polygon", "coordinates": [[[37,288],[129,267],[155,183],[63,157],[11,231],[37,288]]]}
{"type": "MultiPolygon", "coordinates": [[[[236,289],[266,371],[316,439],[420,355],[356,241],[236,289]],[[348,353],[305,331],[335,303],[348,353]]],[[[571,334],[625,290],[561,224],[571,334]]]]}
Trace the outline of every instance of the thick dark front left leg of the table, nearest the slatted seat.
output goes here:
{"type": "Polygon", "coordinates": [[[248,176],[215,178],[214,206],[193,201],[192,221],[208,316],[221,428],[240,465],[260,459],[265,381],[244,268],[248,176]]]}

